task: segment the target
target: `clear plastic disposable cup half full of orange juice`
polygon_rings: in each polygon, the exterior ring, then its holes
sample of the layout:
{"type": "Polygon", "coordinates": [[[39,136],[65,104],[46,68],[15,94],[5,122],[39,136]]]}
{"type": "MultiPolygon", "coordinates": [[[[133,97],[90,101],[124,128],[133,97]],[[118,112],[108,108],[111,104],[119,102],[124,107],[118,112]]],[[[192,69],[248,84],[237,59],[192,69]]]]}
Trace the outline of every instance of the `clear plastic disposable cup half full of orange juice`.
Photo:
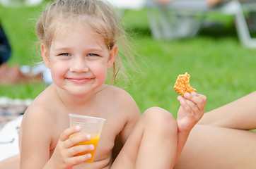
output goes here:
{"type": "Polygon", "coordinates": [[[93,159],[95,156],[95,151],[98,146],[98,141],[100,139],[100,133],[103,129],[103,125],[105,123],[105,118],[94,118],[86,115],[76,115],[76,114],[69,114],[70,118],[70,127],[74,126],[81,126],[81,131],[75,134],[72,134],[71,137],[77,136],[79,134],[91,134],[92,139],[88,142],[81,142],[76,144],[77,145],[85,145],[85,144],[93,144],[94,150],[93,151],[86,151],[83,153],[76,154],[76,156],[81,156],[83,154],[91,154],[91,158],[87,163],[93,163],[93,159]]]}

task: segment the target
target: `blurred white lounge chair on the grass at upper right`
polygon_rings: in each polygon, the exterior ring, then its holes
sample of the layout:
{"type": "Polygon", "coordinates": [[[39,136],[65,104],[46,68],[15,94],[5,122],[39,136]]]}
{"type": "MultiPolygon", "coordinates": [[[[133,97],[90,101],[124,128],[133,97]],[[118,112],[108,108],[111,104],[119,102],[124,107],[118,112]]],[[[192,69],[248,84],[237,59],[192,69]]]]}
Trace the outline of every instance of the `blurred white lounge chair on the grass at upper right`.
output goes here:
{"type": "Polygon", "coordinates": [[[147,0],[145,7],[152,35],[156,39],[194,37],[204,24],[207,13],[217,12],[234,15],[240,43],[249,48],[256,48],[256,39],[251,37],[245,20],[245,13],[248,13],[256,26],[256,1],[228,1],[210,7],[205,0],[173,0],[164,6],[147,0]]]}

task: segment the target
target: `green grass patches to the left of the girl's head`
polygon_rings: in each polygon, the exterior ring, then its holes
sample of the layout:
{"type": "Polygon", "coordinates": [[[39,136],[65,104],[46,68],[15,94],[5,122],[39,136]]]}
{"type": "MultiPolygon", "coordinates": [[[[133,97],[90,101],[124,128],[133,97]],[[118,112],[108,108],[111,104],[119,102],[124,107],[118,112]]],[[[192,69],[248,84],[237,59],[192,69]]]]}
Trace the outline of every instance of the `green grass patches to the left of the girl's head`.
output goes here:
{"type": "MultiPolygon", "coordinates": [[[[8,65],[35,65],[40,61],[35,35],[35,18],[39,11],[40,6],[30,8],[0,6],[0,21],[12,48],[8,65]]],[[[40,83],[0,86],[0,96],[33,99],[44,88],[45,84],[40,83]]]]}

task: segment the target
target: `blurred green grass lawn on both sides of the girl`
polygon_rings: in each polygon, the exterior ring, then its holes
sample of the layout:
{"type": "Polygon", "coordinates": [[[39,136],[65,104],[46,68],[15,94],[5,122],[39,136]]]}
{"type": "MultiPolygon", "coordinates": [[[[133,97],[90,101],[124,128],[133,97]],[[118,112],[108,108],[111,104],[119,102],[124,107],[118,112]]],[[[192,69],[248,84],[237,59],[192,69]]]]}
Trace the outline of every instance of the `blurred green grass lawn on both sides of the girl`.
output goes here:
{"type": "MultiPolygon", "coordinates": [[[[44,6],[45,4],[42,4],[44,6]]],[[[39,61],[34,25],[40,6],[7,8],[0,6],[0,18],[13,47],[9,65],[32,65],[39,61]]],[[[223,21],[223,19],[222,19],[223,21]]],[[[177,113],[178,94],[173,84],[179,74],[191,74],[190,83],[207,96],[206,111],[255,91],[256,49],[240,45],[230,17],[225,27],[205,29],[193,39],[172,42],[151,37],[145,11],[127,11],[124,27],[133,38],[144,74],[132,72],[127,91],[134,97],[141,112],[161,106],[177,113]],[[138,17],[139,15],[139,17],[138,17]]],[[[0,95],[33,99],[45,84],[0,86],[0,95]]]]}

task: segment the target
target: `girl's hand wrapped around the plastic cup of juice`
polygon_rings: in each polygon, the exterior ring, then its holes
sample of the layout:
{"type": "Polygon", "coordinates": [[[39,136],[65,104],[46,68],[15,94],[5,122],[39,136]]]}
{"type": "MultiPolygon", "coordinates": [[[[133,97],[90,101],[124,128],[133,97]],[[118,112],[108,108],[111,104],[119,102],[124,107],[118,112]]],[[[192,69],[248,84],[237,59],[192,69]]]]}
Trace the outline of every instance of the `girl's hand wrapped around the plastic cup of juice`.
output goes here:
{"type": "Polygon", "coordinates": [[[83,161],[87,161],[91,158],[91,154],[85,154],[82,156],[75,156],[78,153],[84,151],[92,151],[94,146],[91,144],[88,145],[78,145],[80,142],[87,142],[91,140],[91,135],[78,135],[75,137],[70,137],[72,134],[79,132],[81,130],[80,126],[70,127],[64,132],[62,132],[59,137],[59,141],[57,146],[55,147],[54,153],[50,158],[50,165],[54,166],[54,168],[73,168],[74,165],[79,163],[83,163],[83,161]]]}

